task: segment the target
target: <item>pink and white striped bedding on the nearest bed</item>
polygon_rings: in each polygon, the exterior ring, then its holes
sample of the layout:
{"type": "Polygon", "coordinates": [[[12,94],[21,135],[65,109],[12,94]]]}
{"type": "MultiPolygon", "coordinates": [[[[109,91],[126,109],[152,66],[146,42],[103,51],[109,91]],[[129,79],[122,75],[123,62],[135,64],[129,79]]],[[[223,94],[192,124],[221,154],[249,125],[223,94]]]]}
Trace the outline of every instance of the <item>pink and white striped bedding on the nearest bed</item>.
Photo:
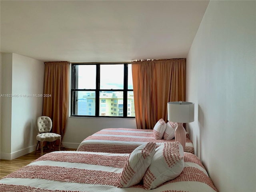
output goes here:
{"type": "MultiPolygon", "coordinates": [[[[58,151],[41,156],[0,180],[1,192],[146,192],[143,184],[118,188],[129,154],[58,151]]],[[[151,192],[215,192],[202,162],[184,153],[185,167],[151,192]]]]}

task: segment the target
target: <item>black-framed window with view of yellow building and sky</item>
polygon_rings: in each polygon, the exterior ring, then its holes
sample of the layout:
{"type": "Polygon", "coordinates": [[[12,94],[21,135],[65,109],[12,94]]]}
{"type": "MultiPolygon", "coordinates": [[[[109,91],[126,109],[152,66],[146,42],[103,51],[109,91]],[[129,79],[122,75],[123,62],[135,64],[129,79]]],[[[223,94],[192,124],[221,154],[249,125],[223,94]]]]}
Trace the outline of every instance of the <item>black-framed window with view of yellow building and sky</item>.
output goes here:
{"type": "Polygon", "coordinates": [[[135,117],[132,64],[73,63],[71,81],[72,116],[135,117]]]}

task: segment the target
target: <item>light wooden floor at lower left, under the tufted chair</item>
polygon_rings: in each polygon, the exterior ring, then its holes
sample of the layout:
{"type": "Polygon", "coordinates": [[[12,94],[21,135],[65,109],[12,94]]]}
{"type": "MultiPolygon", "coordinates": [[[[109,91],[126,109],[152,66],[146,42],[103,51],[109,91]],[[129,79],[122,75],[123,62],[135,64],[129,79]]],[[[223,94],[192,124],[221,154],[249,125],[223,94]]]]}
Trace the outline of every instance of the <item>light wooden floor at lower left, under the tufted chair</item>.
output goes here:
{"type": "MultiPolygon", "coordinates": [[[[76,151],[76,149],[65,149],[66,151],[76,151]]],[[[53,150],[51,150],[53,151],[53,150]]],[[[44,154],[51,152],[50,150],[44,150],[44,154]]],[[[26,166],[27,164],[30,164],[32,161],[36,160],[40,157],[40,150],[38,150],[35,154],[35,152],[31,152],[29,154],[26,154],[24,156],[18,157],[13,160],[0,160],[0,178],[18,170],[19,168],[22,168],[26,166]]]]}

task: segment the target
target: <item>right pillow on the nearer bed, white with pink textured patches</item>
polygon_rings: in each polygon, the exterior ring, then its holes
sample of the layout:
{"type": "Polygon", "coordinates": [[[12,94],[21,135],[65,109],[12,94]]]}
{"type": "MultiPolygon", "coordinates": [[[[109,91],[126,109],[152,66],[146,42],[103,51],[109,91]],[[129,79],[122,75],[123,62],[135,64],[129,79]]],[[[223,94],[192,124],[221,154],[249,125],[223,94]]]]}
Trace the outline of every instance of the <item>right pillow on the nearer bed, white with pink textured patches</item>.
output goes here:
{"type": "Polygon", "coordinates": [[[184,152],[179,142],[168,142],[156,148],[144,177],[146,190],[154,189],[180,175],[184,168],[184,152]]]}

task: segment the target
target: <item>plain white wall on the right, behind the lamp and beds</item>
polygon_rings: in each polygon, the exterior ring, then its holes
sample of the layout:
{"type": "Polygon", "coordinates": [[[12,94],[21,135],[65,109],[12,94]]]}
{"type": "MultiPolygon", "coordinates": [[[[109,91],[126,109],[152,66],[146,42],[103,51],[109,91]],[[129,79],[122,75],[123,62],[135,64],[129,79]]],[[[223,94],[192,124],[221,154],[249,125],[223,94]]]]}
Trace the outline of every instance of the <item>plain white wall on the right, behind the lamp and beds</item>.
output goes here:
{"type": "Polygon", "coordinates": [[[210,1],[187,56],[195,153],[220,192],[256,191],[256,1],[210,1]]]}

